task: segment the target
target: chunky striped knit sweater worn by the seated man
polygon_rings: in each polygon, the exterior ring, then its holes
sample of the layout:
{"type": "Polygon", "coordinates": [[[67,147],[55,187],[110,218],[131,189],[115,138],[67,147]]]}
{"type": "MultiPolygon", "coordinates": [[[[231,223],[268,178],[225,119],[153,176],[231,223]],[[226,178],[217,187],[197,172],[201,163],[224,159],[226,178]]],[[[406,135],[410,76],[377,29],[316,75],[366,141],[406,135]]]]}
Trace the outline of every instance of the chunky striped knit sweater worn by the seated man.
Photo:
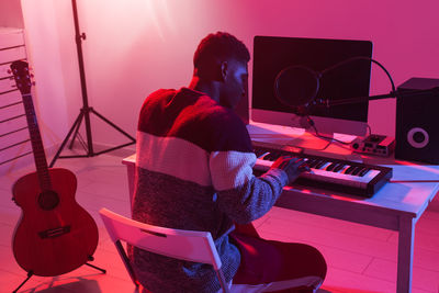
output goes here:
{"type": "MultiPolygon", "coordinates": [[[[252,174],[256,156],[240,119],[188,88],[158,90],[144,102],[137,129],[133,218],[168,228],[212,234],[230,281],[239,251],[228,241],[233,223],[266,214],[288,183],[272,169],[252,174]]],[[[209,264],[128,247],[140,283],[151,292],[216,292],[209,264]]]]}

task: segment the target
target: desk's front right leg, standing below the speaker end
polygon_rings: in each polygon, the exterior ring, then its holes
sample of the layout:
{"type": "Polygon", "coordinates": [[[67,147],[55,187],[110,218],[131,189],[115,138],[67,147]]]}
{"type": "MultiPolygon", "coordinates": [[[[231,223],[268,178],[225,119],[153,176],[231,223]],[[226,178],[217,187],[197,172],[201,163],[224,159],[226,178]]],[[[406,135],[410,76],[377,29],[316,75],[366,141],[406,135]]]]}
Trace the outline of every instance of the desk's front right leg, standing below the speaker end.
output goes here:
{"type": "Polygon", "coordinates": [[[412,292],[413,248],[415,241],[415,222],[413,217],[399,217],[397,293],[412,292]]]}

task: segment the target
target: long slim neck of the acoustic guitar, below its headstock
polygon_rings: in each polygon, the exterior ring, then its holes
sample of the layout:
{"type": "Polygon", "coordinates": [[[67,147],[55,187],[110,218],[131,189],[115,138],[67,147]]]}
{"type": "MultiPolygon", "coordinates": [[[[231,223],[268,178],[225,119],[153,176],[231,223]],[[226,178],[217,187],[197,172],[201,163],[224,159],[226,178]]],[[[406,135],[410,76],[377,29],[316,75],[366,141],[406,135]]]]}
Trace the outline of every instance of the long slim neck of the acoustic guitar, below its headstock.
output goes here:
{"type": "Polygon", "coordinates": [[[42,190],[50,190],[52,182],[48,172],[46,154],[44,151],[38,123],[36,121],[36,114],[32,101],[32,94],[31,93],[22,94],[22,98],[23,98],[24,111],[26,113],[29,134],[31,136],[32,150],[34,154],[35,167],[36,167],[36,172],[38,174],[40,187],[42,188],[42,190]]]}

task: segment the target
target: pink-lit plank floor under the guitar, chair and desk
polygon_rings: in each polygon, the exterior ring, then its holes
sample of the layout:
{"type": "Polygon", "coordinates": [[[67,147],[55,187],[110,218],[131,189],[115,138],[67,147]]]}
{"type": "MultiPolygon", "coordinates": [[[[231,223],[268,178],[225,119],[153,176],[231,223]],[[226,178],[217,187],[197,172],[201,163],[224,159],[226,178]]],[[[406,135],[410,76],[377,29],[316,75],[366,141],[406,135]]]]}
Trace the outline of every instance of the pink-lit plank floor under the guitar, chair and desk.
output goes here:
{"type": "MultiPolygon", "coordinates": [[[[113,293],[136,292],[98,216],[101,207],[130,215],[128,187],[123,156],[59,159],[56,167],[74,171],[78,178],[77,202],[95,219],[99,246],[95,266],[106,274],[82,266],[55,278],[32,277],[20,292],[113,293]]],[[[33,166],[0,178],[0,292],[12,292],[26,277],[15,262],[11,239],[21,210],[11,201],[11,184],[33,171],[33,166]]],[[[391,230],[351,224],[273,207],[256,221],[259,233],[286,241],[317,247],[328,262],[328,275],[319,292],[372,293],[396,291],[397,234],[391,230]]],[[[439,213],[427,210],[416,226],[413,292],[439,292],[439,213]]]]}

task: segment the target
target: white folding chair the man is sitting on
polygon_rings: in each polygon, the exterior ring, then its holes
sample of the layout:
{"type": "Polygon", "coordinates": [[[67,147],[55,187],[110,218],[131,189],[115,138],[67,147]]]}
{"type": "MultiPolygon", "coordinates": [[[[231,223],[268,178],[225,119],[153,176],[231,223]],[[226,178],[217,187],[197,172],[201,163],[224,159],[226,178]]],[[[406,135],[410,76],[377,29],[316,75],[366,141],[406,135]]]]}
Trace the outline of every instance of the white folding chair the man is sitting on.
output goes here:
{"type": "Polygon", "coordinates": [[[223,292],[230,292],[221,271],[221,259],[211,233],[157,227],[121,216],[106,209],[101,209],[99,213],[136,286],[139,282],[121,240],[158,255],[212,264],[223,292]]]}

